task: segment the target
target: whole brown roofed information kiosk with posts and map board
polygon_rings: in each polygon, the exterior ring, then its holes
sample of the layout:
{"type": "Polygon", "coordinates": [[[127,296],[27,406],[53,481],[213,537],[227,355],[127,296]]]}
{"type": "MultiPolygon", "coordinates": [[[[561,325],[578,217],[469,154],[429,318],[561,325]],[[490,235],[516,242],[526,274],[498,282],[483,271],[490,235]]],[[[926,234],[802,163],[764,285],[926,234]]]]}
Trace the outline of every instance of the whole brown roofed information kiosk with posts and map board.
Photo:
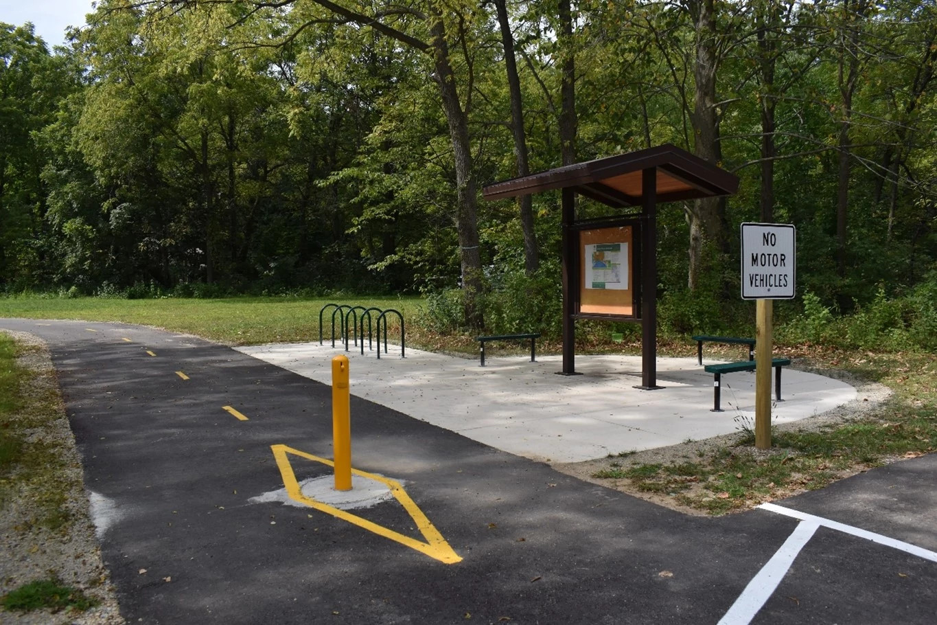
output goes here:
{"type": "Polygon", "coordinates": [[[483,188],[485,200],[560,189],[563,370],[575,374],[575,320],[641,323],[641,379],[657,385],[657,204],[732,195],[738,178],[675,145],[567,165],[483,188]],[[575,194],[632,213],[577,219],[575,194]],[[633,212],[640,207],[640,213],[633,212]]]}

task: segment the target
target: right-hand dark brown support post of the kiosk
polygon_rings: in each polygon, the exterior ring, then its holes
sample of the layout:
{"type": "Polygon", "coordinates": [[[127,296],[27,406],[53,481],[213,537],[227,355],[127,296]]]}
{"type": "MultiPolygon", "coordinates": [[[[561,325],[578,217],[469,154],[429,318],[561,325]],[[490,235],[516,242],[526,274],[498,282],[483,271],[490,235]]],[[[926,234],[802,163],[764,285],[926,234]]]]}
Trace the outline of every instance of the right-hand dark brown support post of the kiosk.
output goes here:
{"type": "Polygon", "coordinates": [[[641,190],[641,386],[657,385],[657,168],[642,171],[641,190]]]}

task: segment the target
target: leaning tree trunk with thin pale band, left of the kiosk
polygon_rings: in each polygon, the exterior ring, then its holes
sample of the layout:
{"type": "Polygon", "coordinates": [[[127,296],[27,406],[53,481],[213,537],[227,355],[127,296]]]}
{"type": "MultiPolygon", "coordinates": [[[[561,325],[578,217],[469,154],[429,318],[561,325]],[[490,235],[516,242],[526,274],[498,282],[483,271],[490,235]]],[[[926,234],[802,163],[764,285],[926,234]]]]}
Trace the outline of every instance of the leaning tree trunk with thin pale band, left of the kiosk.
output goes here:
{"type": "Polygon", "coordinates": [[[434,78],[442,97],[442,110],[449,125],[449,137],[455,157],[456,216],[459,249],[462,260],[462,289],[465,291],[466,322],[472,328],[484,326],[479,306],[482,294],[482,255],[478,237],[478,192],[472,156],[468,141],[468,116],[462,110],[455,74],[449,60],[449,46],[445,39],[442,16],[434,7],[430,25],[432,37],[430,53],[436,69],[434,78]]]}

